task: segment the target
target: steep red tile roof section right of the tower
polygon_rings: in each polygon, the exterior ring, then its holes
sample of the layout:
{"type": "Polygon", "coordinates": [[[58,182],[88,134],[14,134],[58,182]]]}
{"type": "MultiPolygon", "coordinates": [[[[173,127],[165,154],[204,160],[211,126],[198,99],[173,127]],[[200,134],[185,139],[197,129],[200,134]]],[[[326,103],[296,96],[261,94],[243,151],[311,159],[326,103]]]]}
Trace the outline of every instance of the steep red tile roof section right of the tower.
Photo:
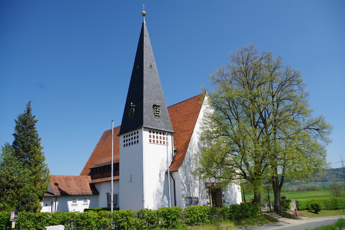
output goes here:
{"type": "Polygon", "coordinates": [[[177,171],[186,156],[190,138],[199,117],[204,97],[200,94],[168,107],[172,129],[174,130],[174,148],[177,150],[170,172],[177,171]]]}

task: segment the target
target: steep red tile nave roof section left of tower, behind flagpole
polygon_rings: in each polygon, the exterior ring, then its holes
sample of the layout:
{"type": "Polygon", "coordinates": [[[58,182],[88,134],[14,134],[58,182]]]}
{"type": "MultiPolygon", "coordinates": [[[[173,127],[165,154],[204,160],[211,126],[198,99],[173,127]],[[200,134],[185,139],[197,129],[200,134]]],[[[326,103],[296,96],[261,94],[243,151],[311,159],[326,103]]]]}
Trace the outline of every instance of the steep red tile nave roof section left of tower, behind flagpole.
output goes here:
{"type": "MultiPolygon", "coordinates": [[[[120,138],[117,136],[120,131],[120,126],[114,128],[114,163],[119,162],[120,156],[120,138]]],[[[104,131],[99,139],[95,149],[93,149],[91,156],[87,160],[84,168],[81,170],[80,176],[91,176],[90,168],[95,168],[111,163],[111,129],[104,131]]],[[[109,179],[110,180],[110,179],[109,179]]]]}

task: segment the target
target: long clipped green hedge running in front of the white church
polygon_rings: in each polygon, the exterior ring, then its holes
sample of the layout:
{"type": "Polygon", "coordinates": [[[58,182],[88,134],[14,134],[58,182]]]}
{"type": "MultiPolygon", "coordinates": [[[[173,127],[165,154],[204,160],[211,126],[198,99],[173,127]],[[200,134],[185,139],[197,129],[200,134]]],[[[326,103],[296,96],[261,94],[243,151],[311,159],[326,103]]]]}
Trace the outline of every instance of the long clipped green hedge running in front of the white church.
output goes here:
{"type": "MultiPolygon", "coordinates": [[[[240,219],[260,214],[258,203],[242,203],[221,206],[193,206],[159,208],[158,210],[140,209],[138,211],[97,210],[86,212],[19,212],[16,230],[43,230],[46,226],[63,225],[65,230],[144,230],[155,228],[179,228],[187,225],[210,223],[215,216],[224,219],[240,219]],[[111,221],[113,226],[111,226],[111,221]]],[[[0,212],[0,229],[9,229],[10,212],[0,212]]]]}

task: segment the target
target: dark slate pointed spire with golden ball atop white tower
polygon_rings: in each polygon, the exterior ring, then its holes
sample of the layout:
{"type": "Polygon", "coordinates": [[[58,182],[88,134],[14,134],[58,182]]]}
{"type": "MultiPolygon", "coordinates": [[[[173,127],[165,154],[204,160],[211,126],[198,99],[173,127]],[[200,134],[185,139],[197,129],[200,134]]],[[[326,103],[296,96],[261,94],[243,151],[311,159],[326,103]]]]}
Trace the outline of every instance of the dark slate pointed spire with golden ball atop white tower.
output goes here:
{"type": "Polygon", "coordinates": [[[145,16],[129,83],[119,135],[141,127],[173,132],[145,16]]]}

